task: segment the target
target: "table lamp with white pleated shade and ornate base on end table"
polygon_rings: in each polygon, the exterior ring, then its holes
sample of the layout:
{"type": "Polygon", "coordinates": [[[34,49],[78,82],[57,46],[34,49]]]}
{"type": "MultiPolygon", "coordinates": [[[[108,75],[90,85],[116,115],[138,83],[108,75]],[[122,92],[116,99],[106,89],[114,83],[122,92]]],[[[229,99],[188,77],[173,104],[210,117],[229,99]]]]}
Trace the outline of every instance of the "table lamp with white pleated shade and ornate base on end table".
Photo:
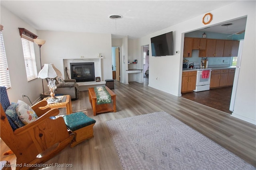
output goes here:
{"type": "Polygon", "coordinates": [[[38,73],[38,78],[47,78],[48,87],[50,89],[50,102],[54,102],[57,98],[55,97],[55,90],[57,88],[54,78],[62,76],[60,70],[58,70],[54,64],[44,64],[44,67],[38,73]]]}

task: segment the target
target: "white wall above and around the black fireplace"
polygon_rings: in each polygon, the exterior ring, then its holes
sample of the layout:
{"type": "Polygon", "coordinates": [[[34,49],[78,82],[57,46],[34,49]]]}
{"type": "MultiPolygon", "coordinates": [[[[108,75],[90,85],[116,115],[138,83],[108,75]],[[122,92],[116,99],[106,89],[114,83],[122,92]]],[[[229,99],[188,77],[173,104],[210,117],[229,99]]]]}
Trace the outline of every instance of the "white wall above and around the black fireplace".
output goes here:
{"type": "Polygon", "coordinates": [[[41,47],[42,64],[54,63],[62,77],[64,67],[61,59],[96,58],[101,53],[104,57],[101,80],[112,79],[111,34],[38,31],[38,36],[46,40],[41,47]]]}

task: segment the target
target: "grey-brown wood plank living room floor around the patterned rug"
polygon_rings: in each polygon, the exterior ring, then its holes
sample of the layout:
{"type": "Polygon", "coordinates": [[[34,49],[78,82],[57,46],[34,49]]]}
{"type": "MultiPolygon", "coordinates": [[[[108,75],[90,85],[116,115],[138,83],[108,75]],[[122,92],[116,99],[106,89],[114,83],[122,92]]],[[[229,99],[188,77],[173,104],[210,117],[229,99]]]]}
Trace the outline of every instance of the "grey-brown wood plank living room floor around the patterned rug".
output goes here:
{"type": "MultiPolygon", "coordinates": [[[[72,101],[72,109],[84,111],[96,120],[94,138],[84,141],[74,148],[66,147],[45,164],[72,164],[72,168],[44,168],[46,170],[120,170],[118,155],[106,127],[106,121],[135,115],[166,111],[193,129],[230,150],[246,162],[256,166],[256,126],[236,119],[222,111],[197,104],[182,97],[172,96],[147,86],[129,82],[122,84],[115,80],[116,113],[101,113],[93,116],[88,100],[88,91],[81,91],[78,100],[72,101]]],[[[60,115],[65,115],[60,109],[60,115]]],[[[8,150],[1,140],[1,160],[15,163],[15,156],[2,156],[8,150]]],[[[14,169],[14,168],[13,168],[14,169]]]]}

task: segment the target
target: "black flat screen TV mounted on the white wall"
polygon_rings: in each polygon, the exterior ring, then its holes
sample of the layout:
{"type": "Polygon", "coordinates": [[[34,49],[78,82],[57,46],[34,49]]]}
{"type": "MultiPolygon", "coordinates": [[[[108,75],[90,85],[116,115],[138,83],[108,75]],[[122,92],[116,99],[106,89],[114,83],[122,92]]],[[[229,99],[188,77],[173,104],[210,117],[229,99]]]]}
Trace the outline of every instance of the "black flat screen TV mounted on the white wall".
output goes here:
{"type": "Polygon", "coordinates": [[[172,32],[152,37],[151,51],[154,57],[173,55],[172,32]]]}

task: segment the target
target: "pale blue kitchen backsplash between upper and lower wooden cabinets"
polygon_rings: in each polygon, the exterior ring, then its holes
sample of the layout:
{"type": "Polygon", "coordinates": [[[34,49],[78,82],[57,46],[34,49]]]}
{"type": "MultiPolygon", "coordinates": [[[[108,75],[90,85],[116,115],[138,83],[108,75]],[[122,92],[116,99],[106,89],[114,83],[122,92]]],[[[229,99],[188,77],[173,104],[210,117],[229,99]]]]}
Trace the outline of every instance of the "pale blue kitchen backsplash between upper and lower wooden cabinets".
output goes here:
{"type": "MultiPolygon", "coordinates": [[[[194,65],[199,65],[201,58],[199,56],[199,50],[192,51],[192,57],[187,57],[188,66],[193,63],[194,65]]],[[[204,57],[205,58],[205,57],[204,57]]],[[[230,66],[232,62],[232,57],[208,57],[208,68],[220,67],[220,66],[230,66]]]]}

